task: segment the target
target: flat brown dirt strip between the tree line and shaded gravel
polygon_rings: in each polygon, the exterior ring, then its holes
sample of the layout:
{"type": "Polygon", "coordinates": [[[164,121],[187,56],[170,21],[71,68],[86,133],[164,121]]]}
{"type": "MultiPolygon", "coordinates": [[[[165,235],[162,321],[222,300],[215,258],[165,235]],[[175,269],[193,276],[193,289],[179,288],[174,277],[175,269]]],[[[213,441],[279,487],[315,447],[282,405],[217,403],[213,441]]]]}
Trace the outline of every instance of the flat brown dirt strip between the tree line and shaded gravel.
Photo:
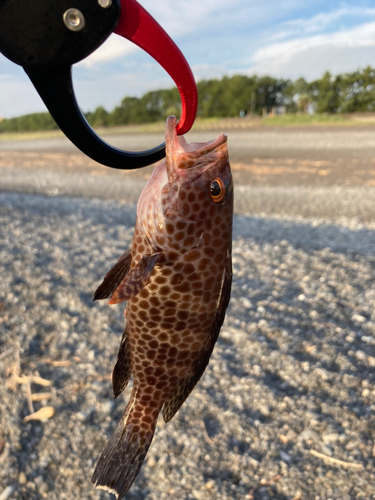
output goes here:
{"type": "MultiPolygon", "coordinates": [[[[189,133],[204,142],[219,131],[189,133]]],[[[161,133],[107,135],[142,150],[161,133]]],[[[254,128],[228,132],[238,213],[375,220],[375,127],[254,128]]],[[[0,142],[0,190],[136,202],[153,167],[99,165],[63,137],[0,142]]]]}

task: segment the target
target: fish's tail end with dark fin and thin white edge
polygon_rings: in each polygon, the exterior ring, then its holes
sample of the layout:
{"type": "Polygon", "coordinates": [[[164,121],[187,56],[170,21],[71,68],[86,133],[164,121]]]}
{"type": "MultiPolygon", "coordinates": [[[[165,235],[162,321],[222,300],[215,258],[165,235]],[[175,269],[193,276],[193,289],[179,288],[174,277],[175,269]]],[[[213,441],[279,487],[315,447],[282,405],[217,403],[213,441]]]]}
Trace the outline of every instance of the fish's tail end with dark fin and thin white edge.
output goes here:
{"type": "Polygon", "coordinates": [[[91,479],[96,488],[109,491],[118,499],[126,495],[154,437],[159,411],[160,408],[145,408],[133,388],[128,406],[96,464],[91,479]]]}

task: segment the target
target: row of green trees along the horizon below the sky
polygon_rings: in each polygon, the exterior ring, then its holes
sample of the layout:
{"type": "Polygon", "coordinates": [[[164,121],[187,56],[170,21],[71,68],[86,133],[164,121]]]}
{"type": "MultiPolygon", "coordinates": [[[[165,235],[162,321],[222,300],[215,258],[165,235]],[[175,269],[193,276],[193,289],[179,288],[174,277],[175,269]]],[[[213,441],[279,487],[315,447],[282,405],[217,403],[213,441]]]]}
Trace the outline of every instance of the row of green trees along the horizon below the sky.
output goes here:
{"type": "MultiPolygon", "coordinates": [[[[353,113],[375,111],[375,69],[370,66],[333,76],[328,71],[318,80],[291,81],[270,76],[235,75],[197,83],[197,116],[223,118],[261,115],[266,108],[285,106],[288,113],[353,113]]],[[[169,115],[179,116],[177,88],[147,92],[142,97],[124,97],[112,111],[99,106],[87,113],[94,127],[152,123],[169,115]]],[[[34,113],[0,121],[0,133],[53,130],[57,125],[49,113],[34,113]]]]}

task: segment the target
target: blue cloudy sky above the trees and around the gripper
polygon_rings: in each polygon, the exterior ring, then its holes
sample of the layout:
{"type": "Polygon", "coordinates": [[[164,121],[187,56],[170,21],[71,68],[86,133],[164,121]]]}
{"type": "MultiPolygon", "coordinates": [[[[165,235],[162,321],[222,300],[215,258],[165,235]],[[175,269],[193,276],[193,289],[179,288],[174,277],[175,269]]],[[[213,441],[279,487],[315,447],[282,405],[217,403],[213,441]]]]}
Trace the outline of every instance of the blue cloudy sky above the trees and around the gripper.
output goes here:
{"type": "MultiPolygon", "coordinates": [[[[375,67],[373,0],[140,0],[184,53],[196,80],[271,75],[308,80],[375,67]]],[[[171,88],[165,71],[111,35],[73,67],[83,111],[171,88]]],[[[23,69],[0,54],[0,117],[45,111],[23,69]]]]}

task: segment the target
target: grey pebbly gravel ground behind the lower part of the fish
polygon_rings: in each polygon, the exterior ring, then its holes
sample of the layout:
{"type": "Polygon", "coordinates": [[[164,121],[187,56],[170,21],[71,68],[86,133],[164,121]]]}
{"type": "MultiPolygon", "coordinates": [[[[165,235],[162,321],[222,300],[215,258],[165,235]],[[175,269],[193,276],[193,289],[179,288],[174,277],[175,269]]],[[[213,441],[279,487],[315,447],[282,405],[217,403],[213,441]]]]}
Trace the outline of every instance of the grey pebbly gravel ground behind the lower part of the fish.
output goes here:
{"type": "MultiPolygon", "coordinates": [[[[109,498],[90,478],[130,393],[110,384],[123,307],[92,294],[134,221],[134,205],[0,193],[1,500],[109,498]]],[[[210,365],[129,499],[375,498],[374,248],[373,223],[235,217],[210,365]]]]}

